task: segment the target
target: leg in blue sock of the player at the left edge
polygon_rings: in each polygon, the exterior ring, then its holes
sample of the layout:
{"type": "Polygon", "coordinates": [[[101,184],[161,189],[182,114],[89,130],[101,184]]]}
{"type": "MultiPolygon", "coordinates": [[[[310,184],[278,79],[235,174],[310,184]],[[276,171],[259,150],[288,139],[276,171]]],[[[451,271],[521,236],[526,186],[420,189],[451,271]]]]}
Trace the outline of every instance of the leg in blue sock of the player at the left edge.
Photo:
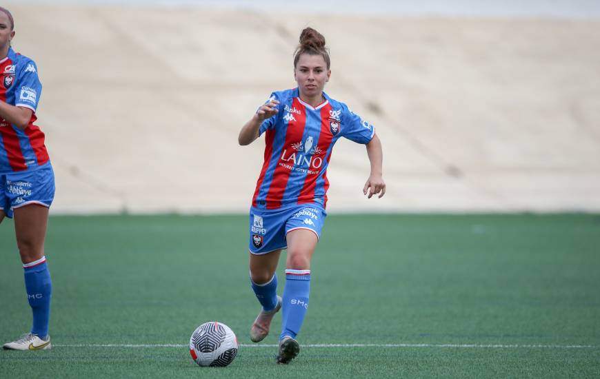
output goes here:
{"type": "Polygon", "coordinates": [[[17,235],[17,247],[25,269],[25,285],[29,305],[33,313],[31,334],[43,340],[33,348],[50,347],[48,323],[50,320],[50,298],[52,281],[44,256],[44,238],[48,227],[48,207],[29,204],[14,209],[14,231],[17,235]]]}

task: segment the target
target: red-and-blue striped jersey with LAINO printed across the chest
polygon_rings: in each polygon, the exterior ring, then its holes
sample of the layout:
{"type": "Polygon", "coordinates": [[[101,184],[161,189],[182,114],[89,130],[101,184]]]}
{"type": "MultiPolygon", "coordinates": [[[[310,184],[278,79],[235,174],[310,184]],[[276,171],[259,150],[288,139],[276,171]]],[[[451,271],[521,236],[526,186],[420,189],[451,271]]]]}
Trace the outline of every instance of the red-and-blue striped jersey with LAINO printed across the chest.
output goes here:
{"type": "Polygon", "coordinates": [[[326,170],[333,145],[340,137],[369,143],[374,127],[348,106],[323,93],[317,107],[303,102],[299,90],[273,92],[279,112],[263,121],[265,161],[252,198],[252,206],[277,209],[285,205],[319,203],[326,206],[329,187],[326,170]]]}

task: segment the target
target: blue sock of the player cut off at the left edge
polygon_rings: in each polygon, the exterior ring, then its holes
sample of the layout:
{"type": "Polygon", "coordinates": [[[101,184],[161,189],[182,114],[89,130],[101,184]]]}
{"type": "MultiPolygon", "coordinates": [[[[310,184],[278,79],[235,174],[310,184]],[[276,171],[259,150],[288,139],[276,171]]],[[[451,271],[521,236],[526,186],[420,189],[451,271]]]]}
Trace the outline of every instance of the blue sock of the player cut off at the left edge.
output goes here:
{"type": "Polygon", "coordinates": [[[32,334],[39,338],[48,336],[50,321],[50,298],[52,298],[52,280],[46,265],[46,257],[23,265],[25,269],[25,288],[27,299],[33,311],[32,334]]]}

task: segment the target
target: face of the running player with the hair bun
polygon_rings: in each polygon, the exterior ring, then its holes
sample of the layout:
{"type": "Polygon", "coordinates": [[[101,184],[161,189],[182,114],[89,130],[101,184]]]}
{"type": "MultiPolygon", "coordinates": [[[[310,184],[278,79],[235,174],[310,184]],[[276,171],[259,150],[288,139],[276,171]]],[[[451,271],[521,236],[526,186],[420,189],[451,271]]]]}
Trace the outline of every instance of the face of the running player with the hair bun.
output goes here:
{"type": "Polygon", "coordinates": [[[309,98],[321,96],[330,75],[331,70],[327,69],[327,63],[321,54],[301,54],[294,69],[294,79],[300,93],[309,98]]]}

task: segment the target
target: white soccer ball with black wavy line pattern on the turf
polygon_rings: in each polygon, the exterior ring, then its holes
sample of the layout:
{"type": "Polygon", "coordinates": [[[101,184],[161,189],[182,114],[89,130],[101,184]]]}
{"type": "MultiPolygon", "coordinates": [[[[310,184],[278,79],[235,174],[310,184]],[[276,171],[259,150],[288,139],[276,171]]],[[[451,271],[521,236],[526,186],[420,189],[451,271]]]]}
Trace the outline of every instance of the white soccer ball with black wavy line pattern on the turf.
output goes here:
{"type": "Polygon", "coordinates": [[[190,354],[202,367],[227,366],[237,354],[237,337],[225,324],[205,322],[192,333],[190,354]]]}

